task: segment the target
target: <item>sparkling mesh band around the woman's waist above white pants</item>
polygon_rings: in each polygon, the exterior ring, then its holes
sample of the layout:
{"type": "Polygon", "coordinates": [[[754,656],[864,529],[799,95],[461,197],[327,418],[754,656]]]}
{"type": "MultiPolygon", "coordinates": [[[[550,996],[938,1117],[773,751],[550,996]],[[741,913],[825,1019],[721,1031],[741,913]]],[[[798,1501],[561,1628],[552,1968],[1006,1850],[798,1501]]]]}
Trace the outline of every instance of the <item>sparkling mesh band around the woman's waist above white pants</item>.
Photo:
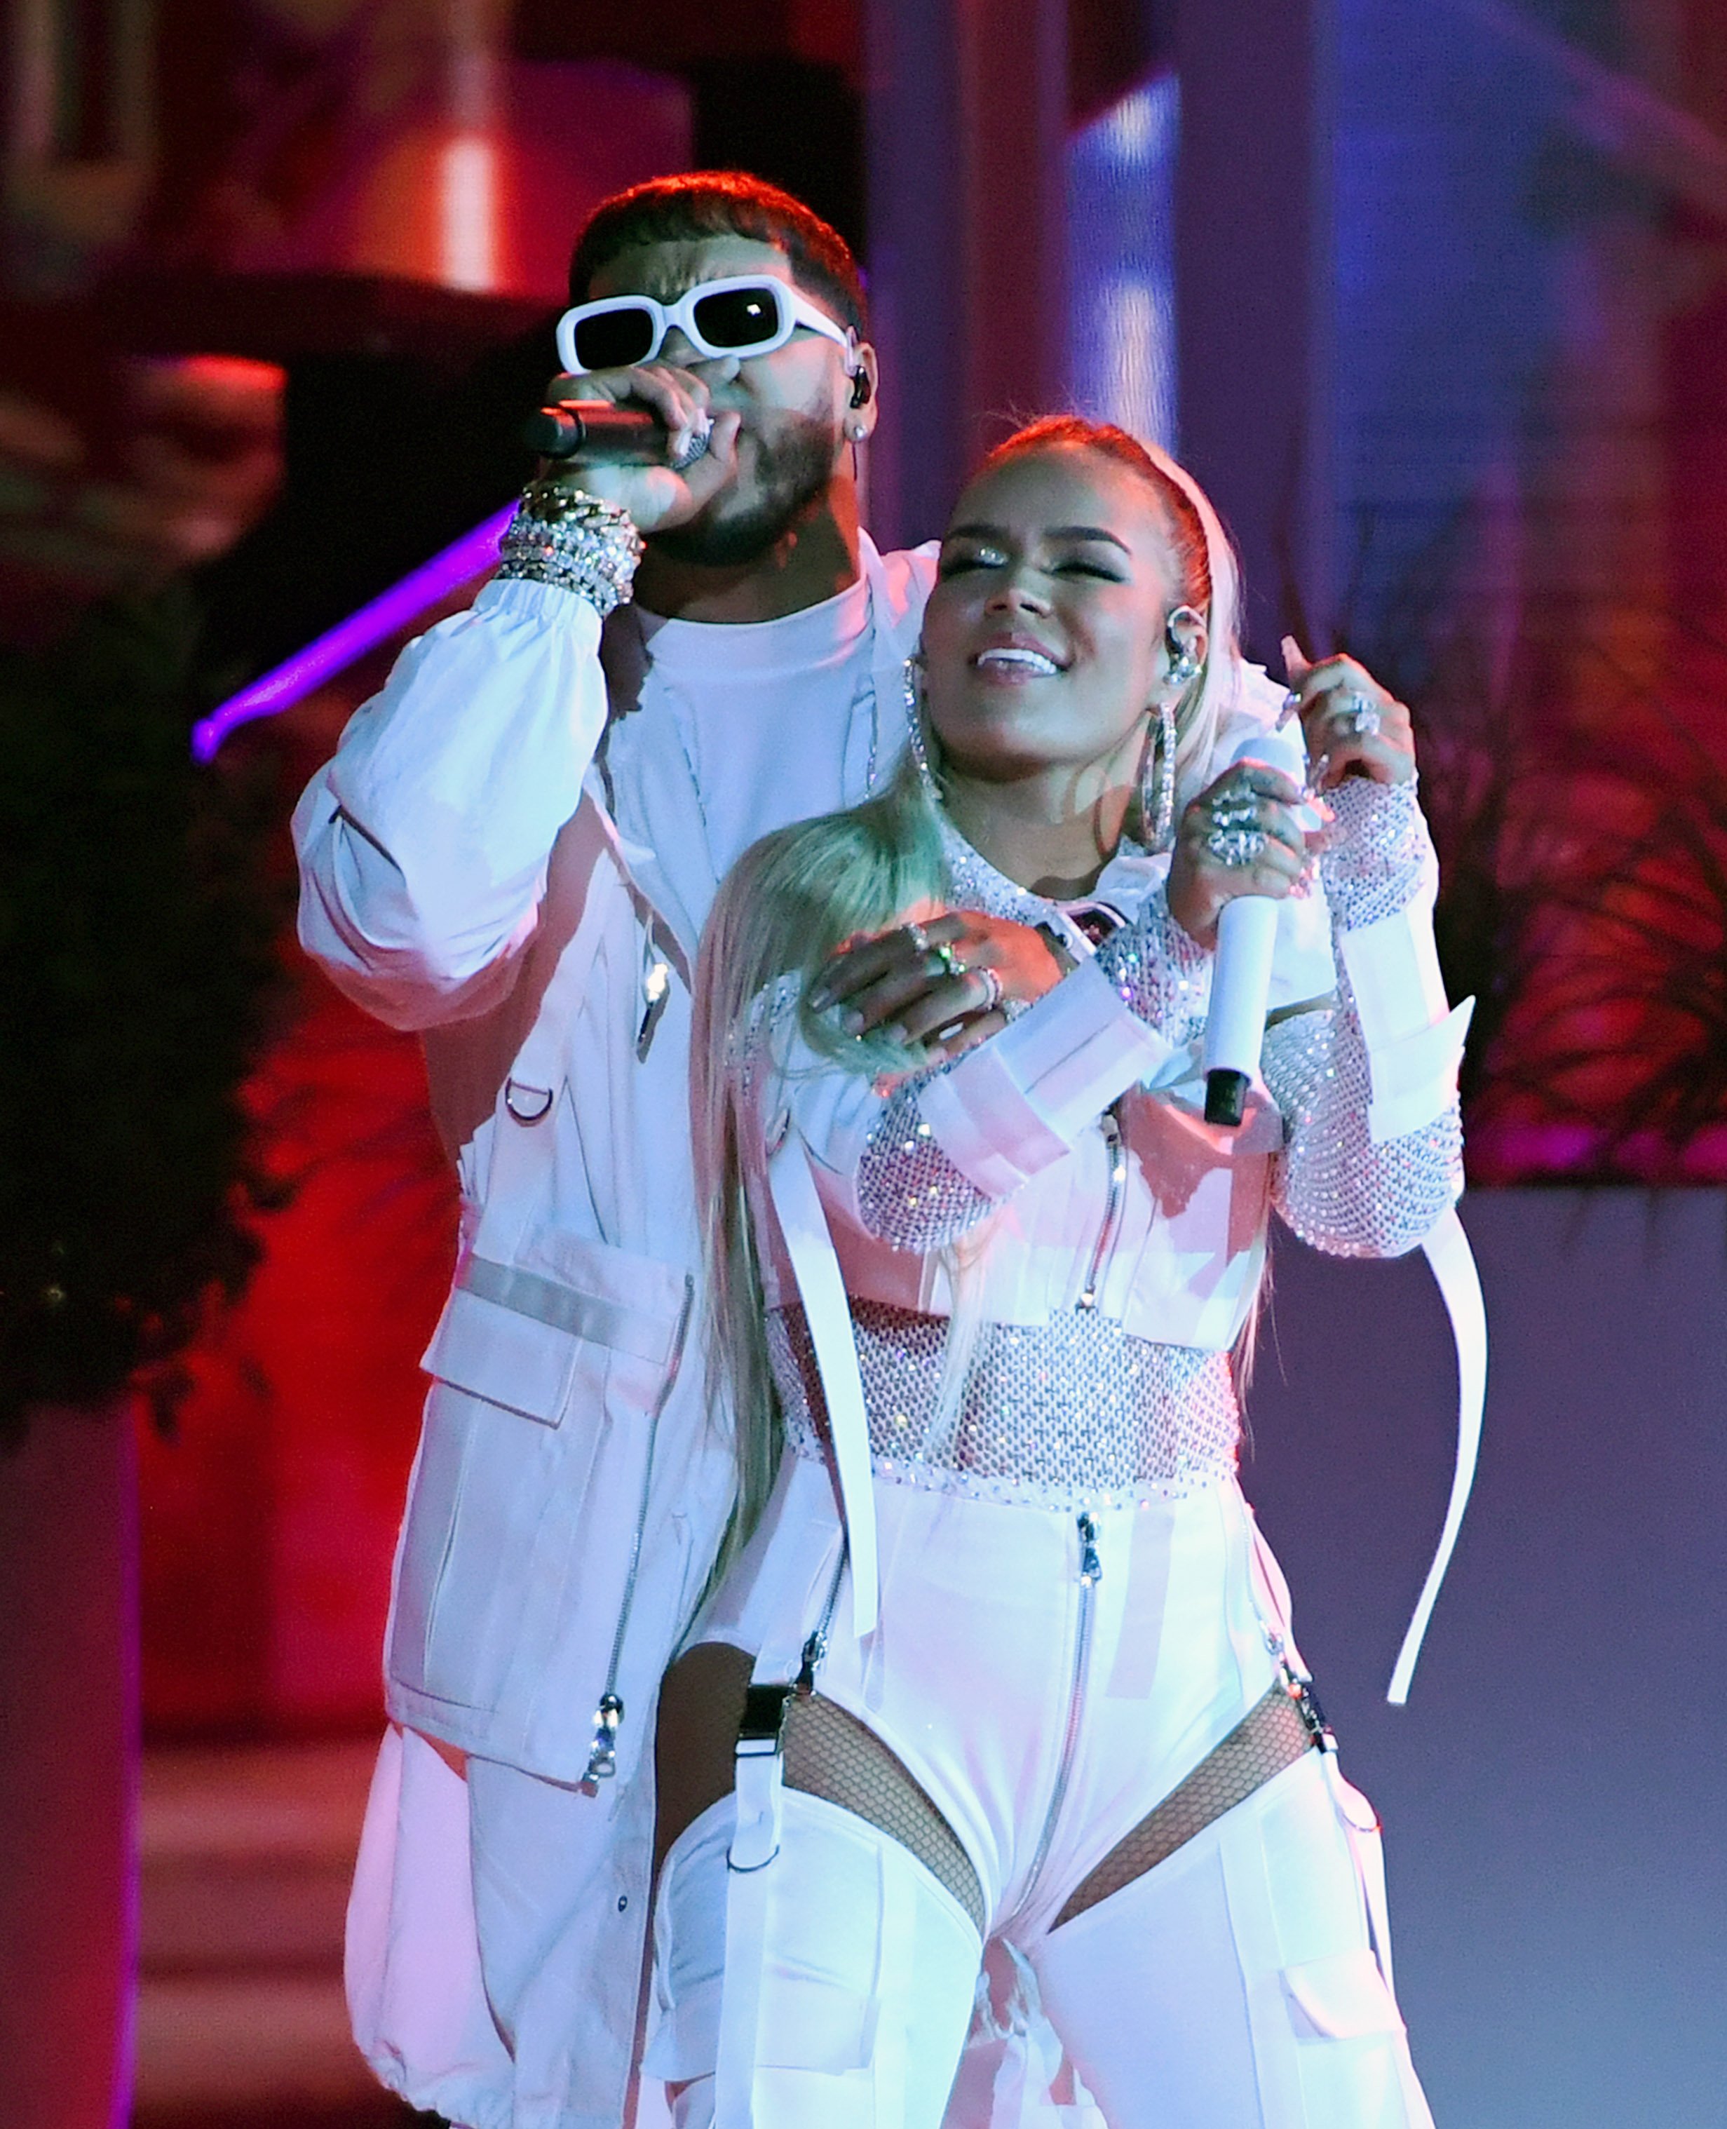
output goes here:
{"type": "MultiPolygon", "coordinates": [[[[1229,1354],[1156,1346],[1095,1309],[1048,1324],[984,1324],[958,1424],[926,1437],[948,1346],[945,1316],[854,1301],[852,1328],[875,1471],[899,1484],[1037,1507],[1171,1499],[1235,1469],[1241,1407],[1229,1354]]],[[[799,1307],[767,1320],[786,1437],[824,1454],[826,1405],[799,1307]]]]}

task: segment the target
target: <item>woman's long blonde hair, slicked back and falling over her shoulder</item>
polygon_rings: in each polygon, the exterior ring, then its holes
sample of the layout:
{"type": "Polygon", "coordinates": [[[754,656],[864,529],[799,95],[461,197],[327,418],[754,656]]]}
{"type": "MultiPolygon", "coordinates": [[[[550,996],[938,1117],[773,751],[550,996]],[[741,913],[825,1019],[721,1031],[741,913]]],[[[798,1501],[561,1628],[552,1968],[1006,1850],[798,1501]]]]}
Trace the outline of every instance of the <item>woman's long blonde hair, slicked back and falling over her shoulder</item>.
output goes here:
{"type": "MultiPolygon", "coordinates": [[[[1235,700],[1235,556],[1197,481],[1156,447],[1109,424],[1052,415],[1009,436],[980,475],[1041,449],[1092,449],[1126,464],[1158,492],[1180,568],[1180,594],[1207,620],[1207,654],[1178,707],[1175,801],[1193,796],[1235,700]]],[[[713,1569],[718,1580],[747,1544],[773,1488],[784,1414],[767,1348],[762,1265],[750,1218],[760,1190],[758,1071],[775,1069],[769,1018],[792,1009],[805,1045],[865,1075],[901,1075],[920,1058],[884,1035],[845,1035],[809,1007],[822,964],[852,937],[882,933],[948,896],[941,852],[941,749],[920,709],[914,745],[888,786],[862,805],[796,822],[754,843],[726,875],[703,933],[690,1037],[696,1184],[707,1271],[709,1405],[730,1409],[737,1499],[713,1569]]],[[[1171,764],[1158,764],[1163,775],[1171,764]]]]}

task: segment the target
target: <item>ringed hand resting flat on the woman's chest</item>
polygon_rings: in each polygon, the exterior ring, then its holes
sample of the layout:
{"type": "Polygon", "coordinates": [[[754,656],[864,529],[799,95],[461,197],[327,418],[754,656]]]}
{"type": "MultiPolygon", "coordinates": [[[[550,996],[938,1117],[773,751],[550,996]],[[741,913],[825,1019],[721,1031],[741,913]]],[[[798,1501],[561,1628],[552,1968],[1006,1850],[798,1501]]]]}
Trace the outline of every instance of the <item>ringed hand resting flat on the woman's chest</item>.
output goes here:
{"type": "Polygon", "coordinates": [[[899,924],[850,939],[809,992],[816,1011],[841,1007],[848,1035],[886,1030],[922,1045],[937,1064],[1007,1026],[1007,1005],[1031,1005],[1067,971],[1031,924],[948,909],[926,924],[899,924]]]}

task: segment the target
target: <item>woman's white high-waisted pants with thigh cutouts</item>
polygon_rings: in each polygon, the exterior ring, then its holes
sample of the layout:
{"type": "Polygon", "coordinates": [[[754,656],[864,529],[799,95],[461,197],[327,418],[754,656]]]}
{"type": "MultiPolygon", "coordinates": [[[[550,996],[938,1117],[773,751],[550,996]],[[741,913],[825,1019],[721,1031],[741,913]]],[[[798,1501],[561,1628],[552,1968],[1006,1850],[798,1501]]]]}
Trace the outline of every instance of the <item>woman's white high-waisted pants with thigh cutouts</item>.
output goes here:
{"type": "MultiPolygon", "coordinates": [[[[1073,1514],[882,1482],[875,1497],[882,1624],[858,1644],[841,1590],[818,1690],[945,1816],[988,1935],[1033,1967],[1109,2129],[1431,2129],[1369,1933],[1371,1812],[1322,1754],[1054,1927],[1276,1678],[1265,1627],[1286,1633],[1286,1592],[1233,1480],[1095,1507],[1090,1586],[1073,1514]]],[[[794,1652],[830,1582],[830,1526],[828,1478],[803,1463],[707,1635],[794,1652]]],[[[713,2123],[722,2016],[752,1984],[754,2129],[937,2129],[982,1957],[965,1910],[888,1835],[786,1790],[760,1974],[739,1978],[730,1825],[730,1799],[696,1818],[660,1880],[647,2069],[686,2086],[679,2129],[713,2123]]]]}

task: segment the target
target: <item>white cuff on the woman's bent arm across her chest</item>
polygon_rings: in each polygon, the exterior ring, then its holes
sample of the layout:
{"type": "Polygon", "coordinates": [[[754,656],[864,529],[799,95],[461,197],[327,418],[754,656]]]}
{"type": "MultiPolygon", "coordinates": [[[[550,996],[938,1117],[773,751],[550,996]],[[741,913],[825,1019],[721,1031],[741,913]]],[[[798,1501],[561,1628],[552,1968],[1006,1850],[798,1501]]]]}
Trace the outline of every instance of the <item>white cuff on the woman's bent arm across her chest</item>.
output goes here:
{"type": "Polygon", "coordinates": [[[1009,1196],[1071,1152],[1118,1094],[1173,1054],[1088,960],[931,1079],[918,1109],[960,1175],[990,1196],[1009,1196]]]}

